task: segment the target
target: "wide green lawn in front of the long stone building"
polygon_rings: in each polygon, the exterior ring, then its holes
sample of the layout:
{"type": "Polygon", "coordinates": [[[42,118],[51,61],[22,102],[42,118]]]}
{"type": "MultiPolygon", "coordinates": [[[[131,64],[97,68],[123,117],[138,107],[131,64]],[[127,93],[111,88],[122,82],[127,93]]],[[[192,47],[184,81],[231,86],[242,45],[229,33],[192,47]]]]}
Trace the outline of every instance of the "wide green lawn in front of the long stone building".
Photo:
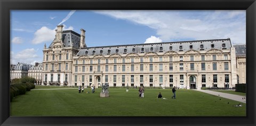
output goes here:
{"type": "MultiPolygon", "coordinates": [[[[90,88],[85,88],[85,92],[90,88]]],[[[78,93],[78,89],[34,90],[13,98],[11,116],[246,116],[246,104],[189,89],[178,89],[172,99],[171,89],[110,88],[110,97],[96,93],[78,93]],[[156,98],[161,92],[163,97],[156,98]],[[221,100],[220,100],[221,98],[221,100]],[[229,102],[229,104],[228,104],[229,102]]]]}

